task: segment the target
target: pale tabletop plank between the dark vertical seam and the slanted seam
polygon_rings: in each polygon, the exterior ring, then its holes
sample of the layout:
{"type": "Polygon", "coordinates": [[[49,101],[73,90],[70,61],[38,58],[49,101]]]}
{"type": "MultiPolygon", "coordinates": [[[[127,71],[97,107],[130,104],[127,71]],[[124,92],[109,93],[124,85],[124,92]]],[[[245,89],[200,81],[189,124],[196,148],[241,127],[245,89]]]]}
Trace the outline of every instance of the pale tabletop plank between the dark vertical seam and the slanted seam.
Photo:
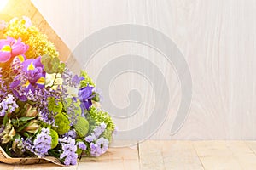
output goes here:
{"type": "Polygon", "coordinates": [[[139,153],[142,170],[203,169],[189,141],[146,141],[139,144],[139,153]]]}

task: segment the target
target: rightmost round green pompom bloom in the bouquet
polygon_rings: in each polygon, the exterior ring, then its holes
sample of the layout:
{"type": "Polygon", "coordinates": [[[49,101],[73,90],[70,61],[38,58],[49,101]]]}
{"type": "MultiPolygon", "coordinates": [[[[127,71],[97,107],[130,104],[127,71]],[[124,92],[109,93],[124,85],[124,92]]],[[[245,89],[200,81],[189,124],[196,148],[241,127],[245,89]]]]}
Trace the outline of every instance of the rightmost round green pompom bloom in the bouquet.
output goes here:
{"type": "Polygon", "coordinates": [[[83,138],[89,131],[89,122],[84,118],[79,116],[78,122],[73,125],[79,138],[83,138]]]}

